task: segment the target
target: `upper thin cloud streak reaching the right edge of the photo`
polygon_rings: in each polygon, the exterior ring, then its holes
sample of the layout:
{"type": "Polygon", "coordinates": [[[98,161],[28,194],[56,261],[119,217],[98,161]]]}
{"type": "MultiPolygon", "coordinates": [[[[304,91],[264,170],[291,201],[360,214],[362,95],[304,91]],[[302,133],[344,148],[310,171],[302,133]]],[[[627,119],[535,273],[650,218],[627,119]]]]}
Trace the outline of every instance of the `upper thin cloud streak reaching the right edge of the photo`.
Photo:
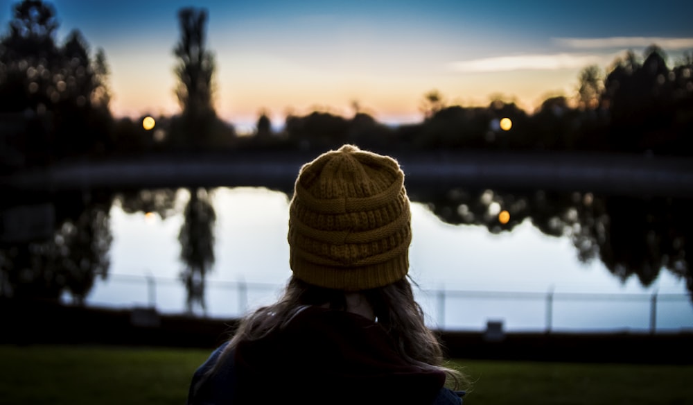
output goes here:
{"type": "Polygon", "coordinates": [[[640,48],[656,44],[662,49],[693,48],[693,38],[666,37],[608,37],[608,38],[554,38],[559,45],[572,49],[640,48]]]}

